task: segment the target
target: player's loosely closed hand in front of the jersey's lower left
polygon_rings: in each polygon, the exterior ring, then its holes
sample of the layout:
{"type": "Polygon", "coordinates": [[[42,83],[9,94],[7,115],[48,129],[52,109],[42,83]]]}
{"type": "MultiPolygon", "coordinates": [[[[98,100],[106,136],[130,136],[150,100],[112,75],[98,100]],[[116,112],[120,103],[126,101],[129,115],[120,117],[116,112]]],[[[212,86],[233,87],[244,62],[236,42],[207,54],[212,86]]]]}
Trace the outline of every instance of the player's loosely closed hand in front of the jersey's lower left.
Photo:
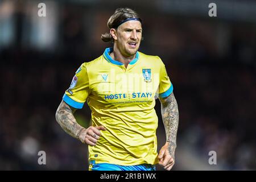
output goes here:
{"type": "Polygon", "coordinates": [[[96,143],[101,136],[100,130],[105,131],[106,129],[104,126],[90,126],[88,129],[81,131],[79,139],[82,143],[87,143],[90,146],[96,146],[96,143]]]}

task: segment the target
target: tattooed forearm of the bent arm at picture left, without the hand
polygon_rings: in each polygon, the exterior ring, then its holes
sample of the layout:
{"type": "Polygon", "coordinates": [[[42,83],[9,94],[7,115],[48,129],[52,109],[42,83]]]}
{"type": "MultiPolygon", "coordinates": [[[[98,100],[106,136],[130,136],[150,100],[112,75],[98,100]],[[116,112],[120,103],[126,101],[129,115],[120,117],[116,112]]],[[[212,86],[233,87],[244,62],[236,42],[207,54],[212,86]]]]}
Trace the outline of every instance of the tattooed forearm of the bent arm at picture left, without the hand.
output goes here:
{"type": "Polygon", "coordinates": [[[79,139],[80,134],[82,133],[82,131],[85,130],[85,128],[80,126],[79,123],[76,122],[76,119],[73,115],[75,111],[75,108],[70,107],[64,101],[61,101],[56,111],[55,117],[59,125],[66,133],[74,138],[79,139]]]}

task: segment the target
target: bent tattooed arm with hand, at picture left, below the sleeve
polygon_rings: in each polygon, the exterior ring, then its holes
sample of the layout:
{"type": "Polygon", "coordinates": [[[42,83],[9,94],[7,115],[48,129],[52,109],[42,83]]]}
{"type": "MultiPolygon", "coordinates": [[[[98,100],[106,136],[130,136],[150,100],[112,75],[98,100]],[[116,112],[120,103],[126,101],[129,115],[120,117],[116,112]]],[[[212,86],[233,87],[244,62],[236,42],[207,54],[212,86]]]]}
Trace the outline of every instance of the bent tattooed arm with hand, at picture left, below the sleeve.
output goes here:
{"type": "Polygon", "coordinates": [[[85,129],[76,122],[74,117],[76,109],[61,101],[56,111],[56,121],[63,128],[63,130],[74,138],[81,140],[82,143],[87,143],[90,146],[95,146],[97,140],[100,138],[99,130],[106,130],[104,126],[90,126],[85,129]]]}

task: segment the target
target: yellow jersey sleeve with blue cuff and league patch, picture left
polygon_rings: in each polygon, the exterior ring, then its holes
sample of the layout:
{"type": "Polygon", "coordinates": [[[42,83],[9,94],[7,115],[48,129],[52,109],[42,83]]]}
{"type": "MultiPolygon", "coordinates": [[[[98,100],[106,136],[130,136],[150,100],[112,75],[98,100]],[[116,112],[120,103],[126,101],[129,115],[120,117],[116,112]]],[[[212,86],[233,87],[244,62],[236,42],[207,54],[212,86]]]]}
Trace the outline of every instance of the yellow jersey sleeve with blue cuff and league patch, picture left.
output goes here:
{"type": "Polygon", "coordinates": [[[83,63],[81,67],[77,69],[71,85],[65,91],[63,101],[76,109],[81,109],[89,94],[89,76],[86,69],[86,63],[83,63]]]}

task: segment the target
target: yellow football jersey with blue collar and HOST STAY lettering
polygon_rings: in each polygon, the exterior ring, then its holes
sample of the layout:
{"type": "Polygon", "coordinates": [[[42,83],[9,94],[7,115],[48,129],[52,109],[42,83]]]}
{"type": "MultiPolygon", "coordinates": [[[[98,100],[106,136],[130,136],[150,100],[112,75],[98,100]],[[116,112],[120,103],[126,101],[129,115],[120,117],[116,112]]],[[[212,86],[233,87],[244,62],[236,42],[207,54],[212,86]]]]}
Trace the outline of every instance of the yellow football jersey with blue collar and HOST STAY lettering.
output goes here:
{"type": "Polygon", "coordinates": [[[156,164],[158,117],[155,99],[167,97],[173,86],[158,56],[137,52],[127,68],[110,57],[113,48],[76,71],[63,100],[81,109],[86,101],[92,110],[92,126],[103,125],[89,160],[123,166],[156,164]]]}

